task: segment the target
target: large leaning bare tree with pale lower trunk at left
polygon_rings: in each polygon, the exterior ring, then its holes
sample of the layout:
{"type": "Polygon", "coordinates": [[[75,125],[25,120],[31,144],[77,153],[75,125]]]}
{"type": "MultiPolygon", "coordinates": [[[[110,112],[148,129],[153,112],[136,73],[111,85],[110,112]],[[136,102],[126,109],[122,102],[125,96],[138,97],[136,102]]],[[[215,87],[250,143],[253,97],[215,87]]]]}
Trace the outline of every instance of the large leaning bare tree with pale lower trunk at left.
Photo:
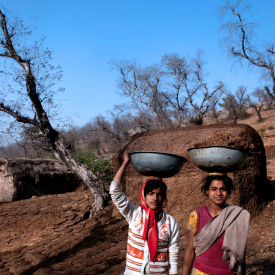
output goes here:
{"type": "Polygon", "coordinates": [[[94,196],[93,210],[104,207],[104,188],[87,166],[75,156],[64,136],[54,129],[50,116],[57,115],[54,104],[54,84],[62,77],[59,67],[50,64],[51,51],[43,48],[44,39],[26,47],[26,37],[31,32],[18,19],[7,19],[0,10],[0,57],[8,60],[11,70],[2,73],[11,76],[14,87],[7,85],[0,91],[0,112],[10,116],[32,137],[43,139],[54,157],[63,162],[85,182],[94,196]],[[8,100],[10,93],[17,95],[8,100]]]}

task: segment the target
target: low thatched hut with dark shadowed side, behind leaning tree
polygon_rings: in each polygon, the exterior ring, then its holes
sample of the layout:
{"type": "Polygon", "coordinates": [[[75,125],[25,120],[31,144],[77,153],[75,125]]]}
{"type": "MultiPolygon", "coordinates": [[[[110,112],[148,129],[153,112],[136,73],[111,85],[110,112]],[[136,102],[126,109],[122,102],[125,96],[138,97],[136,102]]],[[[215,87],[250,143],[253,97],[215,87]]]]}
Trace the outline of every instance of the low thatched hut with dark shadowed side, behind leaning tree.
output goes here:
{"type": "Polygon", "coordinates": [[[80,186],[79,178],[57,160],[0,158],[0,202],[71,192],[80,186]]]}

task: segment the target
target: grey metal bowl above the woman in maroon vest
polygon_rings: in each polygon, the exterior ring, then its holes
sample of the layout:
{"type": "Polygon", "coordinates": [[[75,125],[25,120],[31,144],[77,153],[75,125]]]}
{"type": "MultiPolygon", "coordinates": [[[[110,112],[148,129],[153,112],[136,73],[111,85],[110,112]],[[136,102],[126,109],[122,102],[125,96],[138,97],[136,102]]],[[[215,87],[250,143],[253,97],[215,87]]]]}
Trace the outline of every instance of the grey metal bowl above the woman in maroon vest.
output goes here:
{"type": "Polygon", "coordinates": [[[240,170],[246,162],[248,151],[224,146],[188,149],[191,160],[207,172],[229,173],[240,170]]]}

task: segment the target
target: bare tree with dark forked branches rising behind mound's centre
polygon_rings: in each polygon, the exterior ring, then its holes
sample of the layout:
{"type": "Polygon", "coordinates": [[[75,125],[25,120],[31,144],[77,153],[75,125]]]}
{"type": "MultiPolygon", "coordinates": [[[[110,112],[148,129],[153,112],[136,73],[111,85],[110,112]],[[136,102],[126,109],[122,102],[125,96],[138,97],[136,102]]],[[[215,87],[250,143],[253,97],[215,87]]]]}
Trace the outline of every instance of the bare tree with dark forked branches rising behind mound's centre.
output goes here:
{"type": "Polygon", "coordinates": [[[162,63],[168,76],[164,96],[172,106],[172,112],[177,114],[176,126],[180,126],[186,118],[192,124],[202,125],[210,110],[210,99],[218,92],[223,93],[224,84],[219,82],[213,90],[209,90],[204,78],[205,62],[201,51],[192,60],[178,54],[165,55],[162,63]]]}

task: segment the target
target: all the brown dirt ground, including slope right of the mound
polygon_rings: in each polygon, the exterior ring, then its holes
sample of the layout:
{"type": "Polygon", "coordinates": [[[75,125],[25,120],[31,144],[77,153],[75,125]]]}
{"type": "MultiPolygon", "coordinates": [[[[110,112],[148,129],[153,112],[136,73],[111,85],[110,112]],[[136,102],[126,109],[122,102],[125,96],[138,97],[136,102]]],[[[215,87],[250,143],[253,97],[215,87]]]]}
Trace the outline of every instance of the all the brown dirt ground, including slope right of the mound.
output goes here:
{"type": "MultiPolygon", "coordinates": [[[[263,141],[269,184],[275,190],[275,110],[241,121],[266,129],[263,141]]],[[[275,192],[251,221],[247,274],[275,274],[275,192]]],[[[34,197],[0,205],[0,274],[123,274],[127,223],[112,218],[112,205],[88,219],[89,191],[34,197]]],[[[181,230],[181,268],[186,244],[181,230]]]]}

